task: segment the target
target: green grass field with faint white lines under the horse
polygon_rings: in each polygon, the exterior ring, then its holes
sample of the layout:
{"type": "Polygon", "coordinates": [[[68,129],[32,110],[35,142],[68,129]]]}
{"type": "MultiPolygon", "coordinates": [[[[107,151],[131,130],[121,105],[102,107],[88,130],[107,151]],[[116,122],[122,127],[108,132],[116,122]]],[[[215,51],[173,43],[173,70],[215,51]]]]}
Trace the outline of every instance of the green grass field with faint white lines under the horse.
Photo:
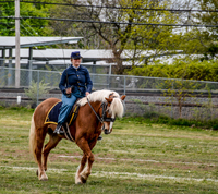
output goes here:
{"type": "Polygon", "coordinates": [[[0,193],[218,193],[218,132],[117,120],[93,153],[85,185],[74,177],[82,151],[61,141],[46,182],[28,153],[32,111],[0,110],[0,193]]]}

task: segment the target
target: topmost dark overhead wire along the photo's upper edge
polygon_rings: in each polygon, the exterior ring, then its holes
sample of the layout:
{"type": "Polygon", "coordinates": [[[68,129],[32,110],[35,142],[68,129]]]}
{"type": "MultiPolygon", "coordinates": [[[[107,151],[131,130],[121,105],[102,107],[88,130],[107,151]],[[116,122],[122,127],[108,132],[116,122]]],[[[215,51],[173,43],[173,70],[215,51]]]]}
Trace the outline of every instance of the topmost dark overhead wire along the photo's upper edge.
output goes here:
{"type": "MultiPolygon", "coordinates": [[[[14,2],[14,1],[0,1],[4,2],[14,2]]],[[[107,9],[122,9],[122,10],[144,10],[144,11],[171,11],[171,12],[218,12],[218,10],[174,10],[174,9],[152,9],[152,8],[129,8],[129,7],[100,7],[100,5],[84,5],[84,4],[71,4],[71,3],[51,3],[51,2],[38,2],[38,1],[20,1],[24,3],[39,3],[39,4],[52,4],[52,5],[71,5],[71,7],[85,7],[85,8],[107,8],[107,9]]]]}

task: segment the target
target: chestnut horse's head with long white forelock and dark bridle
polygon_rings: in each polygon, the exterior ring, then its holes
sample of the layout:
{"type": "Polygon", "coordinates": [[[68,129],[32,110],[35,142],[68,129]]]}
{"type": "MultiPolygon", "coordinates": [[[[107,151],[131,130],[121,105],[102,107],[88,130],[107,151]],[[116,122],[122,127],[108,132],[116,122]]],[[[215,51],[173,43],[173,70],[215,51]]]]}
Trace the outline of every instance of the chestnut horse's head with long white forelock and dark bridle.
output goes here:
{"type": "Polygon", "coordinates": [[[106,102],[101,104],[102,108],[102,130],[105,134],[110,134],[112,132],[112,125],[116,121],[116,117],[122,117],[124,112],[122,100],[125,99],[125,95],[118,98],[110,95],[109,98],[105,98],[106,102]]]}

